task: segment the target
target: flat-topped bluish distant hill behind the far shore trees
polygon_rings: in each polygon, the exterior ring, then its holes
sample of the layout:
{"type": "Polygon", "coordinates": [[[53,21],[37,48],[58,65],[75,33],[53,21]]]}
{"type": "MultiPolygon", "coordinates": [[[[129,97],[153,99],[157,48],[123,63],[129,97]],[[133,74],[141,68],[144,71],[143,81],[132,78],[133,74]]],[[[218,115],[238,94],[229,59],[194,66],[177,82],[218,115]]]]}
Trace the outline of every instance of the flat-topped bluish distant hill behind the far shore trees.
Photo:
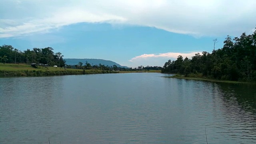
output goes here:
{"type": "Polygon", "coordinates": [[[68,65],[76,65],[78,62],[82,62],[83,65],[86,63],[90,63],[91,65],[99,65],[99,64],[104,64],[105,66],[113,66],[116,65],[117,67],[121,68],[128,68],[127,66],[121,66],[120,64],[113,62],[111,60],[102,60],[102,59],[89,59],[89,58],[84,58],[84,59],[78,59],[78,58],[65,58],[66,64],[68,65]]]}

